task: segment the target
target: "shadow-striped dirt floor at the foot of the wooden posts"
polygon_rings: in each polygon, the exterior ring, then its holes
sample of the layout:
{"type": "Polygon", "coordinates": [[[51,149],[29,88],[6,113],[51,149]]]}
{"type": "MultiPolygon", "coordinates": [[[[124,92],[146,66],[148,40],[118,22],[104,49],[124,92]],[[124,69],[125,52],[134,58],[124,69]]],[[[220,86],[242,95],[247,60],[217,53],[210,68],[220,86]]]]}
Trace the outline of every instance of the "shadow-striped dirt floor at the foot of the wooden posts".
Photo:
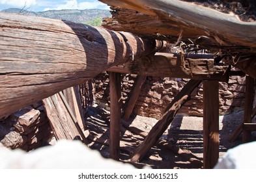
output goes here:
{"type": "MultiPolygon", "coordinates": [[[[94,105],[87,110],[87,116],[87,129],[90,131],[89,147],[99,150],[102,156],[109,157],[109,111],[94,105]]],[[[235,142],[229,142],[228,138],[242,123],[243,117],[243,110],[220,116],[220,157],[226,153],[227,149],[242,143],[242,136],[239,136],[235,142]]],[[[130,126],[149,132],[157,121],[154,118],[132,116],[128,123],[130,126]]],[[[121,129],[121,135],[121,161],[128,162],[130,153],[139,146],[143,137],[135,135],[124,127],[121,129]]],[[[197,159],[202,160],[203,118],[176,116],[169,129],[162,135],[162,139],[181,149],[191,151],[197,159]]],[[[251,140],[256,140],[255,133],[252,133],[251,140]]],[[[145,165],[151,168],[199,168],[173,151],[159,149],[156,146],[150,149],[141,162],[134,165],[137,168],[145,165]]]]}

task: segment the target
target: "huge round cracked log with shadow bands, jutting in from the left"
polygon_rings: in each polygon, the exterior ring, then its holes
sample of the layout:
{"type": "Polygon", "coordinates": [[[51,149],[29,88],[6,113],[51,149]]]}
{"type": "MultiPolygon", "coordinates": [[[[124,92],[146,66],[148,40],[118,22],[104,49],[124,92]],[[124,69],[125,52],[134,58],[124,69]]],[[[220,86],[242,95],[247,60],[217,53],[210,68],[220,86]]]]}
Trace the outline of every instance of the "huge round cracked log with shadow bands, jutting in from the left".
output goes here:
{"type": "Polygon", "coordinates": [[[0,13],[0,118],[152,53],[156,41],[58,19],[0,13]]]}

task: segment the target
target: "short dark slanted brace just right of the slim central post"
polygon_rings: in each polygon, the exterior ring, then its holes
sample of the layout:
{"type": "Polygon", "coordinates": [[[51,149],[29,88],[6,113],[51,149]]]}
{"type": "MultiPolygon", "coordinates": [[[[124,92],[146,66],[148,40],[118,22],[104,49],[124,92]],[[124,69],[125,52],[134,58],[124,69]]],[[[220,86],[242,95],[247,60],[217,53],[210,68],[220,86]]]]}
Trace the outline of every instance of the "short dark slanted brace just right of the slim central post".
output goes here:
{"type": "Polygon", "coordinates": [[[141,87],[145,83],[147,76],[137,76],[137,80],[135,82],[135,85],[132,88],[132,91],[130,92],[129,97],[127,98],[127,105],[124,111],[124,116],[122,116],[122,119],[127,121],[131,114],[132,110],[134,110],[135,103],[137,99],[139,98],[139,93],[141,92],[141,87]]]}

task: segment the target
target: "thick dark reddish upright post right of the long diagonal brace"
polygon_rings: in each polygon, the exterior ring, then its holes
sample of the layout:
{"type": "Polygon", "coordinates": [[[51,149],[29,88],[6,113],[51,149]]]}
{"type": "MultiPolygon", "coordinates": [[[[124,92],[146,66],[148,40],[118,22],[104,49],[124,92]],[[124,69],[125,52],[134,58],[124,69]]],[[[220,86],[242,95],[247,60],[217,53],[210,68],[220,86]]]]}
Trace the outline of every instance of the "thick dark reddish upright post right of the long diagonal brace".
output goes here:
{"type": "Polygon", "coordinates": [[[203,82],[204,168],[213,168],[219,159],[219,83],[203,82]]]}

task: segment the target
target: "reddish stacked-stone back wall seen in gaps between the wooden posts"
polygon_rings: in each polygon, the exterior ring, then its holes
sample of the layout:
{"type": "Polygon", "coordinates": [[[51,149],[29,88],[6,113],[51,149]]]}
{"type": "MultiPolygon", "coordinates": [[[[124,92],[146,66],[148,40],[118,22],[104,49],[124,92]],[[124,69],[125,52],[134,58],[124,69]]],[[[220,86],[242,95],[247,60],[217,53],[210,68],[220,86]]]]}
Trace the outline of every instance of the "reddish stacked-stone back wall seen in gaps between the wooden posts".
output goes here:
{"type": "MultiPolygon", "coordinates": [[[[135,75],[122,75],[122,103],[130,94],[135,75]]],[[[134,113],[141,116],[159,119],[167,105],[186,85],[189,79],[173,79],[147,77],[139,94],[134,113]]],[[[109,108],[109,79],[102,73],[94,79],[96,103],[109,108]]],[[[220,83],[220,114],[229,114],[233,110],[244,108],[245,77],[232,76],[229,83],[220,83]]],[[[203,84],[193,92],[190,101],[182,107],[178,114],[182,116],[203,116],[203,84]]]]}

